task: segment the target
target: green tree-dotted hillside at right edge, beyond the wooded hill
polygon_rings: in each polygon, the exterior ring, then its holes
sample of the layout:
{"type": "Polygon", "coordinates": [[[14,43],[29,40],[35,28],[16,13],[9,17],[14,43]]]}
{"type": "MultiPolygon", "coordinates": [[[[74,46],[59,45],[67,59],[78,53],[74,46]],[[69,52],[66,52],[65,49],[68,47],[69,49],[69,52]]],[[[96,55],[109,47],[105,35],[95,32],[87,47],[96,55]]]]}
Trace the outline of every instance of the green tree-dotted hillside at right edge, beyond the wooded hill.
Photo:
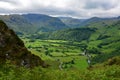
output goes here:
{"type": "Polygon", "coordinates": [[[111,23],[111,25],[101,27],[93,26],[93,24],[88,26],[97,28],[97,31],[90,37],[88,48],[90,50],[93,47],[97,48],[102,53],[93,58],[93,63],[102,63],[112,57],[120,56],[120,21],[111,21],[111,23]]]}

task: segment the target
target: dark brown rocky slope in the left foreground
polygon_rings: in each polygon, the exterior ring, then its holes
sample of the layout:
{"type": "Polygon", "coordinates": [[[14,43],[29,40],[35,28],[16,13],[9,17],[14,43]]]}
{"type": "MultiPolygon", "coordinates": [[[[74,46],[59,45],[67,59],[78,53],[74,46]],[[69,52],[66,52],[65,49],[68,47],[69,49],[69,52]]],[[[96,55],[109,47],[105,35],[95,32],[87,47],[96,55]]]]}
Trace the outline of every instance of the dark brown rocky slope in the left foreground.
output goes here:
{"type": "Polygon", "coordinates": [[[0,21],[0,64],[4,64],[7,60],[17,66],[46,66],[38,56],[31,54],[26,49],[13,30],[0,21]]]}

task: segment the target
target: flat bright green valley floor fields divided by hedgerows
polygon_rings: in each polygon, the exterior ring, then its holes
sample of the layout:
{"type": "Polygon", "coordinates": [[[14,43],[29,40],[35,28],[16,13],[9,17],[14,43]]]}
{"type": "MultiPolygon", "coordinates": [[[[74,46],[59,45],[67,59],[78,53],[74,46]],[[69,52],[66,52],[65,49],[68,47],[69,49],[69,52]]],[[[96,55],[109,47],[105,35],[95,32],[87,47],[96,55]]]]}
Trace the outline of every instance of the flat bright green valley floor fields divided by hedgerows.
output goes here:
{"type": "Polygon", "coordinates": [[[63,69],[85,70],[88,67],[87,57],[81,55],[83,52],[79,42],[64,40],[30,40],[22,38],[25,46],[35,55],[39,56],[51,69],[59,69],[62,62],[63,69]]]}

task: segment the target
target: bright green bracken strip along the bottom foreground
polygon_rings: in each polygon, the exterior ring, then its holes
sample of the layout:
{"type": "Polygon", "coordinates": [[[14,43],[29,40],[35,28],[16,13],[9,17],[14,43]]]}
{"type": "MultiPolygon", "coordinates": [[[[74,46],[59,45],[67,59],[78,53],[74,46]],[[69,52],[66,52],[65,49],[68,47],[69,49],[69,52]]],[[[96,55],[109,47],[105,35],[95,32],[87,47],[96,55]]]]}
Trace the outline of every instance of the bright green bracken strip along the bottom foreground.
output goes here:
{"type": "Polygon", "coordinates": [[[93,70],[55,70],[41,67],[27,69],[10,64],[0,68],[0,80],[119,80],[120,66],[99,67],[93,70]]]}

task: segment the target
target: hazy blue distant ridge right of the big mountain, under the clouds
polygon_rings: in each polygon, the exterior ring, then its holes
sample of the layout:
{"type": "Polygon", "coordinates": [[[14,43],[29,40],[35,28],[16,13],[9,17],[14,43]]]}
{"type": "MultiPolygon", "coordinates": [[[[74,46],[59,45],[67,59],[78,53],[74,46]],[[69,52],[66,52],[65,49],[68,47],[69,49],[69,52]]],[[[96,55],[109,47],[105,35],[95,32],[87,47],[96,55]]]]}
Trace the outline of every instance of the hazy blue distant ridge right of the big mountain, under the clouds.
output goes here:
{"type": "MultiPolygon", "coordinates": [[[[100,17],[92,17],[89,19],[77,19],[77,18],[71,18],[71,17],[58,17],[61,19],[63,23],[65,23],[70,28],[79,28],[79,27],[87,27],[94,23],[104,23],[104,22],[116,22],[120,20],[120,17],[113,17],[113,18],[100,18],[100,17]]],[[[112,23],[108,23],[112,24],[112,23]]],[[[102,25],[102,24],[100,24],[102,25]]]]}

